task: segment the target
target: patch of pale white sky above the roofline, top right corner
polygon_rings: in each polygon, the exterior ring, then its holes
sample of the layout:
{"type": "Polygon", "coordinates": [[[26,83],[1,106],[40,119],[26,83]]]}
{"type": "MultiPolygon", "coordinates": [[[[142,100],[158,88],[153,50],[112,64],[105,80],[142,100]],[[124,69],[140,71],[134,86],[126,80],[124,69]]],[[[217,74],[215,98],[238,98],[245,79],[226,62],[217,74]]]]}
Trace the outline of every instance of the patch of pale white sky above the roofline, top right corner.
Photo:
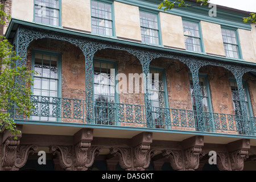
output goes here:
{"type": "Polygon", "coordinates": [[[210,0],[209,3],[243,11],[256,12],[256,0],[210,0]]]}

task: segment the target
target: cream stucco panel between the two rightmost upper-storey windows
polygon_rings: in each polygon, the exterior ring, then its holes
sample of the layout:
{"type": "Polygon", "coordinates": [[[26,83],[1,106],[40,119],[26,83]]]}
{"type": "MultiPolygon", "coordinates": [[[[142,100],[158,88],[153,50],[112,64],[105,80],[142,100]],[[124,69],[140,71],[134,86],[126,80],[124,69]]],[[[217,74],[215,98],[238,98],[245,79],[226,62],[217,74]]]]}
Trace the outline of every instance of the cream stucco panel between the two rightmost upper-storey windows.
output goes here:
{"type": "Polygon", "coordinates": [[[220,24],[201,21],[204,51],[215,55],[225,56],[220,24]]]}

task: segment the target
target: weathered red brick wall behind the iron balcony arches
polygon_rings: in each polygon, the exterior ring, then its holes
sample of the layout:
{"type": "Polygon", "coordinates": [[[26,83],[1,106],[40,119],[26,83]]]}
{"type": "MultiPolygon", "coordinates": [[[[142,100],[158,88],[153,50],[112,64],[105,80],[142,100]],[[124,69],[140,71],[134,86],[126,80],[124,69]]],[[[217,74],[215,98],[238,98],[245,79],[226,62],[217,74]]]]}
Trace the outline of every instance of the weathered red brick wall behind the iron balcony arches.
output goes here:
{"type": "MultiPolygon", "coordinates": [[[[61,97],[85,99],[85,58],[81,50],[76,46],[60,40],[42,39],[34,40],[28,48],[27,65],[31,68],[31,50],[32,48],[49,49],[62,53],[61,72],[62,86],[61,97]]],[[[134,85],[134,93],[129,93],[129,82],[134,84],[134,80],[129,80],[129,73],[142,73],[142,66],[136,57],[126,51],[114,49],[102,49],[94,55],[96,58],[114,60],[117,63],[117,73],[126,76],[127,85],[119,86],[119,103],[144,105],[143,82],[134,85]],[[135,92],[136,91],[136,92],[135,92]]],[[[166,84],[168,94],[168,106],[175,109],[192,110],[191,95],[189,89],[189,69],[179,60],[159,58],[151,61],[154,67],[164,68],[166,73],[166,84]]],[[[229,86],[229,77],[233,77],[226,69],[221,67],[207,66],[200,69],[200,73],[208,75],[210,97],[213,112],[223,114],[234,114],[232,94],[229,86]]],[[[247,76],[249,79],[249,91],[251,95],[251,104],[255,111],[254,102],[255,78],[247,76]]],[[[118,77],[119,81],[121,77],[118,77]]],[[[123,79],[123,78],[122,78],[123,79]]],[[[81,106],[82,109],[84,105],[81,106]]],[[[79,119],[66,119],[65,122],[82,122],[79,119]]],[[[125,126],[143,125],[137,123],[122,123],[125,126]]],[[[172,127],[172,129],[194,130],[192,127],[172,127]]],[[[221,131],[223,132],[223,131],[221,131]]]]}

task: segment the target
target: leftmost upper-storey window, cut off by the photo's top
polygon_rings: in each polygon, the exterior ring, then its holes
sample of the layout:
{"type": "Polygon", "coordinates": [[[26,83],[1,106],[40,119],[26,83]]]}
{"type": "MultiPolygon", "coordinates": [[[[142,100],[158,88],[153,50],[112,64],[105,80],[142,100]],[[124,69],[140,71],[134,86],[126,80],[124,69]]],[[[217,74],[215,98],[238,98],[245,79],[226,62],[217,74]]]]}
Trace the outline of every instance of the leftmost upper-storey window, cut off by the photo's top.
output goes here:
{"type": "Polygon", "coordinates": [[[60,0],[35,0],[34,21],[60,26],[60,0]]]}

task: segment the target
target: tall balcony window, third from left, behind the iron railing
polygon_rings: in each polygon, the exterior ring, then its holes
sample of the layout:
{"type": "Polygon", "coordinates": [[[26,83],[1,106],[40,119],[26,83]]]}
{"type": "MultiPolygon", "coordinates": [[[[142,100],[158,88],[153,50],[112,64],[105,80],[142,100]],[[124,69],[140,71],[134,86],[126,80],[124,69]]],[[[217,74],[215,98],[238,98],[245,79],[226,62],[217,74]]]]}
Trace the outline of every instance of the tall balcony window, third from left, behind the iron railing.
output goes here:
{"type": "Polygon", "coordinates": [[[170,118],[164,69],[150,68],[150,100],[156,128],[164,128],[164,119],[170,118]]]}

